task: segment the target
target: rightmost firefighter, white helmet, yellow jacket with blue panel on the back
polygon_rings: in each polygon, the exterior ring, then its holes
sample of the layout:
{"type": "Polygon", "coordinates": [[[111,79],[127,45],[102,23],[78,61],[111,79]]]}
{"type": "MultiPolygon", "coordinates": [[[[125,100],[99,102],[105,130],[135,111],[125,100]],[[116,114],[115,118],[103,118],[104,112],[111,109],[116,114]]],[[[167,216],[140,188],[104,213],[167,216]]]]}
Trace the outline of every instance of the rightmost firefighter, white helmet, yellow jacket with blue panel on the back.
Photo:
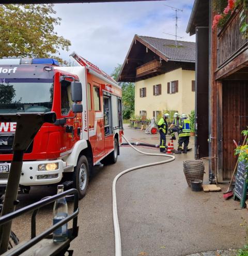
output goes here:
{"type": "Polygon", "coordinates": [[[182,114],[179,125],[179,139],[178,139],[178,151],[187,154],[187,148],[190,142],[190,121],[186,114],[182,114]],[[182,143],[183,149],[182,149],[182,143]]]}

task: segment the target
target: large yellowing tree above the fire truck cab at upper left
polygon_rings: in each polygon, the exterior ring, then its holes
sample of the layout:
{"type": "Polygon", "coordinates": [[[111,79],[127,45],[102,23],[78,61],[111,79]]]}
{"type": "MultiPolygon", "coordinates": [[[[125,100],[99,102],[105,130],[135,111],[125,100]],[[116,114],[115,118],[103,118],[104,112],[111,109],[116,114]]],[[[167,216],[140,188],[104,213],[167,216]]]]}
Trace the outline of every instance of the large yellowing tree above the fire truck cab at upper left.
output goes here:
{"type": "Polygon", "coordinates": [[[0,5],[0,57],[55,57],[69,50],[71,42],[54,32],[61,19],[52,4],[0,5]]]}

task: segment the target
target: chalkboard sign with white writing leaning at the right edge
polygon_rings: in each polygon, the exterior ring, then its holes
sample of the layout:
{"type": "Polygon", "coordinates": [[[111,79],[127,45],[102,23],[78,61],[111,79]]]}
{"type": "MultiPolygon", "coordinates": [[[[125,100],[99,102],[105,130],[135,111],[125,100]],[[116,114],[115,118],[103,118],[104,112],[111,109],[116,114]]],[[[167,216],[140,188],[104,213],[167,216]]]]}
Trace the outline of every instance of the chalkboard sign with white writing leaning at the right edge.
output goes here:
{"type": "Polygon", "coordinates": [[[246,192],[247,192],[247,164],[243,162],[239,162],[235,189],[234,189],[234,199],[240,199],[240,207],[244,208],[245,200],[246,200],[246,192]]]}

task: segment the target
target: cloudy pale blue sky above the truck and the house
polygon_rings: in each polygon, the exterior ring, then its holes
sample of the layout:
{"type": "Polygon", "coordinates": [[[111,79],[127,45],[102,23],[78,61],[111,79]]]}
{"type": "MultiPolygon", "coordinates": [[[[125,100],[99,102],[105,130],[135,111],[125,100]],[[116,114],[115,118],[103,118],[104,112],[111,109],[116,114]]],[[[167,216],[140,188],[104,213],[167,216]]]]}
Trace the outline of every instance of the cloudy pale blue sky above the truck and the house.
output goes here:
{"type": "Polygon", "coordinates": [[[122,64],[135,34],[175,39],[175,11],[178,12],[178,35],[183,41],[195,41],[186,34],[194,0],[150,2],[56,4],[56,16],[62,18],[56,27],[58,35],[71,41],[69,52],[61,57],[69,60],[75,51],[100,69],[111,74],[117,63],[122,64]]]}

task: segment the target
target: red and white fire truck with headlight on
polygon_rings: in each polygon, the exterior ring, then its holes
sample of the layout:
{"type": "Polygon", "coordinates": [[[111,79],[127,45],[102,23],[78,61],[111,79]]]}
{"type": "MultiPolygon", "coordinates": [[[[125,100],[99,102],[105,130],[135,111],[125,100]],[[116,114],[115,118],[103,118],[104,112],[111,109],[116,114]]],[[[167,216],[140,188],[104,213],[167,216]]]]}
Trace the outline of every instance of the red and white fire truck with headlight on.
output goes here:
{"type": "MultiPolygon", "coordinates": [[[[23,157],[20,190],[64,183],[86,193],[95,164],[115,163],[122,135],[121,87],[97,66],[60,67],[48,58],[0,59],[0,115],[54,111],[23,157]]],[[[30,124],[32,126],[32,124],[30,124]]],[[[0,194],[7,184],[15,123],[0,123],[0,194]]]]}

